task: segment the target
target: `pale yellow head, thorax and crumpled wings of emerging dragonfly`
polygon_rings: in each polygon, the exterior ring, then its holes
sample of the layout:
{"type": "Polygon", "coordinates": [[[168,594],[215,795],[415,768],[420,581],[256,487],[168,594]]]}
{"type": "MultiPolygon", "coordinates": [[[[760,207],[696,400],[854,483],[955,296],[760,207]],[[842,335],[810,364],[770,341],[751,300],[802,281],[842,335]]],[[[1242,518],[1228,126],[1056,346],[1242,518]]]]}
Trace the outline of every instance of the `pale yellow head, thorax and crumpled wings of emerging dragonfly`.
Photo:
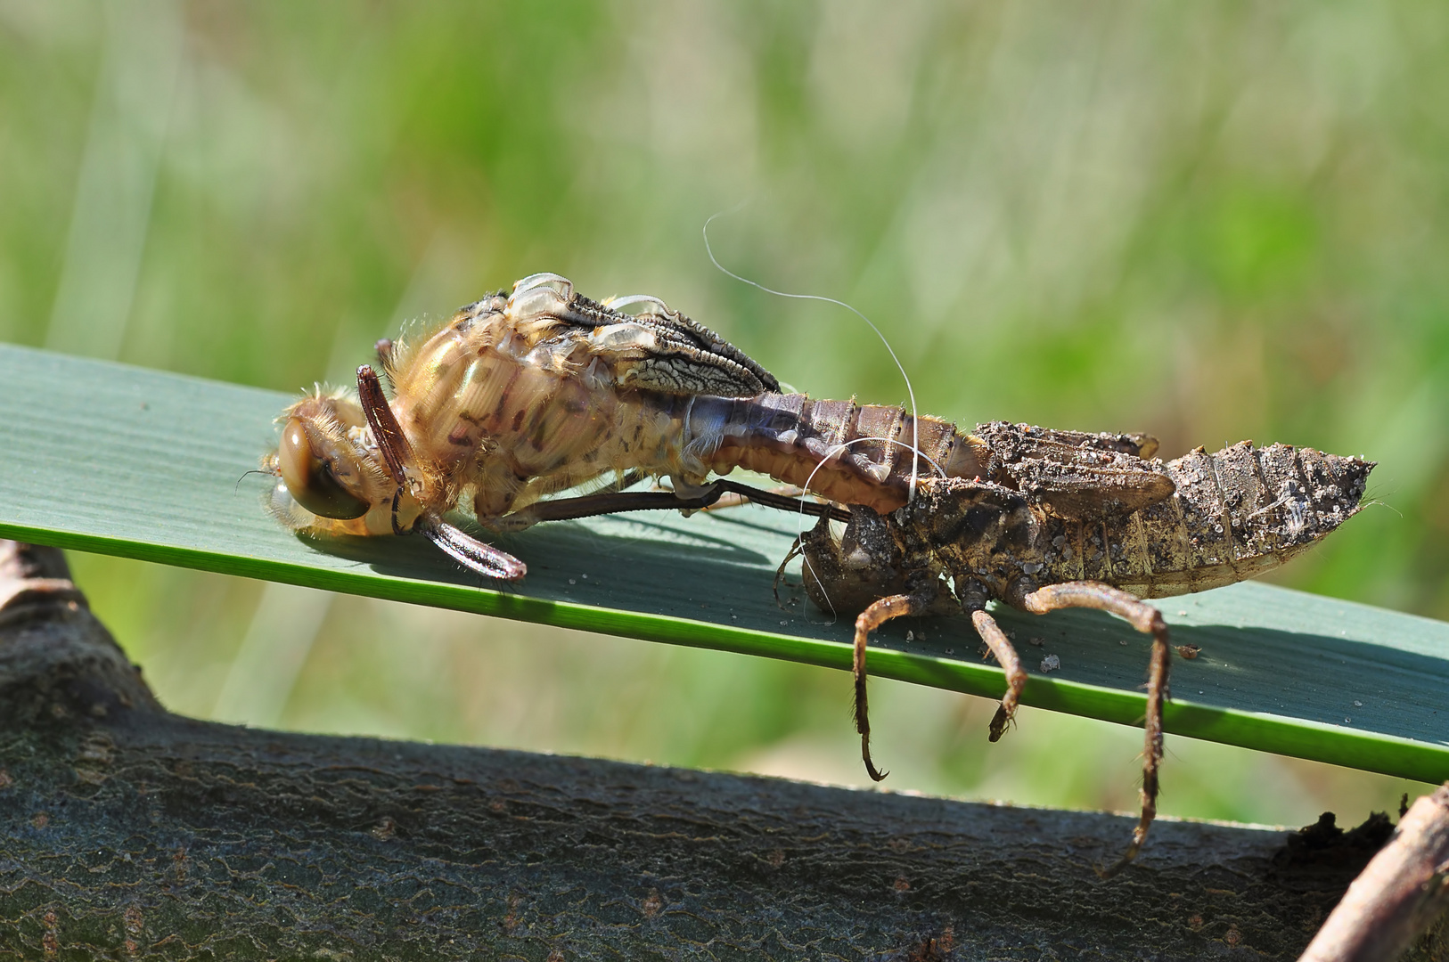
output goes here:
{"type": "MultiPolygon", "coordinates": [[[[669,477],[687,491],[706,481],[707,458],[720,446],[732,411],[719,403],[778,388],[738,349],[661,301],[597,304],[555,275],[464,307],[443,327],[396,345],[384,362],[388,406],[409,448],[401,493],[356,396],[319,390],[278,420],[304,451],[293,455],[301,465],[294,474],[314,478],[325,469],[343,507],[313,513],[294,497],[304,484],[294,478],[288,490],[284,480],[272,511],[290,527],[384,535],[459,506],[498,527],[542,497],[625,474],[669,477]],[[627,314],[620,306],[642,310],[627,314]],[[698,398],[716,404],[691,423],[698,398]]],[[[264,459],[280,478],[287,464],[281,452],[264,459]]]]}

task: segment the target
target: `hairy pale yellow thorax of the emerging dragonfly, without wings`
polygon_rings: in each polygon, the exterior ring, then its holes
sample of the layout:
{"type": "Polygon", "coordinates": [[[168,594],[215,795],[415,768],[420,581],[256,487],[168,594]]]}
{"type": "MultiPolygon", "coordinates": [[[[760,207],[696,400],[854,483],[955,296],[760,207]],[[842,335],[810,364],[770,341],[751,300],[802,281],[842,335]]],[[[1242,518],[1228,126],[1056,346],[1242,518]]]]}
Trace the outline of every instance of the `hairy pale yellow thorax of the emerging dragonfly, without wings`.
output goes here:
{"type": "Polygon", "coordinates": [[[688,404],[623,387],[610,333],[480,301],[390,364],[393,411],[422,467],[419,498],[471,503],[484,523],[596,478],[642,471],[701,481],[682,458],[688,404]]]}

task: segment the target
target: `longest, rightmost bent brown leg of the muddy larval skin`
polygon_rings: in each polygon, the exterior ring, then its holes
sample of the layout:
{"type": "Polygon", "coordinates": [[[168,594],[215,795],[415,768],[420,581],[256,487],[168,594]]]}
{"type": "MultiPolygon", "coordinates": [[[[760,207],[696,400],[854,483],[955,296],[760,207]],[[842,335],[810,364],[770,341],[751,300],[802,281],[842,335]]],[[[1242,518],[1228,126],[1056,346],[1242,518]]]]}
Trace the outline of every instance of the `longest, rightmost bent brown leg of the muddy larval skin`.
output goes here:
{"type": "Polygon", "coordinates": [[[1132,627],[1152,636],[1152,659],[1148,665],[1148,711],[1143,719],[1145,745],[1142,759],[1142,814],[1132,833],[1132,845],[1111,866],[1097,869],[1103,878],[1111,878],[1137,858],[1148,829],[1158,814],[1158,769],[1162,765],[1162,704],[1168,697],[1168,671],[1172,666],[1172,649],[1168,646],[1168,626],[1162,613],[1136,595],[1095,581],[1068,581],[1053,584],[1011,598],[1011,604],[1033,614],[1046,614],[1059,608],[1097,608],[1124,619],[1132,627]]]}

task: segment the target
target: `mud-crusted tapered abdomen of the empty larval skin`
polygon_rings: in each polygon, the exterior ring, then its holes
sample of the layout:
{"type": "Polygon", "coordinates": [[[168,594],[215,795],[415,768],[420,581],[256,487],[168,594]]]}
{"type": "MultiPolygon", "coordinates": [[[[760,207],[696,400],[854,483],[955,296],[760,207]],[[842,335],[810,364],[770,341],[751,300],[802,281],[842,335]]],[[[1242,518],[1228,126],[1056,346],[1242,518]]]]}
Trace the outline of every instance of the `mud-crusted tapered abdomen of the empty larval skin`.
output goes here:
{"type": "Polygon", "coordinates": [[[1172,497],[1123,522],[1082,526],[1085,552],[1075,577],[1139,597],[1256,577],[1356,514],[1375,465],[1313,448],[1240,442],[1211,455],[1198,448],[1165,467],[1177,484],[1172,497]]]}

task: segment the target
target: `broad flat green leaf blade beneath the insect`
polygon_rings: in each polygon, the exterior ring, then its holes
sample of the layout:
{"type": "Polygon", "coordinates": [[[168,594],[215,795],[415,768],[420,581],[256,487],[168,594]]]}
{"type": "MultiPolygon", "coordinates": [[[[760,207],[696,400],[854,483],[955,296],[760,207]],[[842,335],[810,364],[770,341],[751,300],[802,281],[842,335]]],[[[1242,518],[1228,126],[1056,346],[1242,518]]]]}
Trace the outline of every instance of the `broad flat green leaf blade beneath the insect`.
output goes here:
{"type": "MultiPolygon", "coordinates": [[[[826,623],[800,598],[775,606],[771,580],[798,526],[778,511],[539,526],[498,539],[529,565],[527,580],[503,591],[420,538],[298,539],[259,504],[271,478],[242,477],[272,443],[287,401],[0,345],[0,536],[849,668],[846,622],[826,623]]],[[[1449,778],[1449,624],[1261,584],[1168,598],[1164,611],[1175,642],[1203,649],[1174,666],[1169,732],[1449,778]]],[[[1061,659],[1049,677],[1033,674],[1024,703],[1124,724],[1142,717],[1140,635],[1094,611],[1000,616],[1029,662],[1061,659]]],[[[1001,693],[1001,672],[981,661],[965,619],[897,622],[880,635],[877,675],[1001,693]]]]}

